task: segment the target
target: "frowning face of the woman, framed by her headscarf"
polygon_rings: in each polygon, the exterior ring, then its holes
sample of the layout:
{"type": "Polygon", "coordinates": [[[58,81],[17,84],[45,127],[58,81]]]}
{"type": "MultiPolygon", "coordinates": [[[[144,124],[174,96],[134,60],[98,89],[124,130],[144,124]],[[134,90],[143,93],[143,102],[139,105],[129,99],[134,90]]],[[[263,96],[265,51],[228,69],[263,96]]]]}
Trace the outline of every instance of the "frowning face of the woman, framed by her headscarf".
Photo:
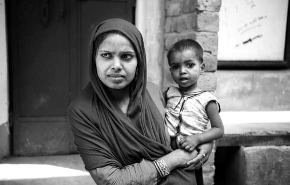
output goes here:
{"type": "Polygon", "coordinates": [[[117,33],[110,33],[96,52],[98,77],[111,89],[125,88],[134,79],[137,63],[133,45],[117,33]]]}

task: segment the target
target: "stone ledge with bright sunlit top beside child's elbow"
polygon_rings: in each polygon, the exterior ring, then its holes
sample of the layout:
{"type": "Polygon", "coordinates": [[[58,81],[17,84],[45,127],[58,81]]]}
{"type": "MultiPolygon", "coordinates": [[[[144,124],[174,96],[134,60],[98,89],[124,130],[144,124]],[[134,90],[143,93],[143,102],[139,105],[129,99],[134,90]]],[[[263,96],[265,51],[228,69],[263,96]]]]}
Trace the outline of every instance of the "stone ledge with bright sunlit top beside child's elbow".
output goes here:
{"type": "Polygon", "coordinates": [[[221,112],[224,136],[217,147],[290,146],[290,111],[221,112]]]}

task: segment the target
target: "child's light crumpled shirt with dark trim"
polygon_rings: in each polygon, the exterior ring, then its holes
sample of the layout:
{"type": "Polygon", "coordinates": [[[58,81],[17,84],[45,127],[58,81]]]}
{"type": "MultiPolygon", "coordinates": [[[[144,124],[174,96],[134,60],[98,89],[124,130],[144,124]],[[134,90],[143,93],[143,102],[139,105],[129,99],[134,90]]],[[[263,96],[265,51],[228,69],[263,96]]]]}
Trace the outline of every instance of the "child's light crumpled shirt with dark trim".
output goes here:
{"type": "Polygon", "coordinates": [[[217,98],[206,91],[183,94],[177,87],[170,86],[165,94],[166,116],[170,136],[175,136],[179,125],[180,137],[200,134],[208,129],[206,106],[215,101],[220,112],[217,98]]]}

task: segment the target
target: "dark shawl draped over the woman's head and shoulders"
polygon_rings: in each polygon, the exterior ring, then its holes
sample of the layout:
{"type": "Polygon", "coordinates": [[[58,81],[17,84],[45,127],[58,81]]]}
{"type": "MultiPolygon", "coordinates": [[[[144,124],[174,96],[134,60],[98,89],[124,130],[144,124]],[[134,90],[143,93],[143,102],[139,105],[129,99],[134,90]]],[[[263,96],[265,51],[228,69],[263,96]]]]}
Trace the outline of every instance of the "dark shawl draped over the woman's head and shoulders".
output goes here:
{"type": "MultiPolygon", "coordinates": [[[[164,132],[164,120],[146,90],[146,56],[141,33],[130,22],[109,19],[100,23],[90,41],[90,83],[71,103],[68,116],[75,144],[86,170],[105,166],[123,168],[153,161],[172,151],[164,132]],[[115,108],[116,102],[97,76],[94,41],[102,33],[117,30],[134,46],[138,59],[138,77],[130,84],[131,99],[127,115],[115,108]]],[[[193,171],[175,169],[160,184],[194,184],[193,171]]]]}

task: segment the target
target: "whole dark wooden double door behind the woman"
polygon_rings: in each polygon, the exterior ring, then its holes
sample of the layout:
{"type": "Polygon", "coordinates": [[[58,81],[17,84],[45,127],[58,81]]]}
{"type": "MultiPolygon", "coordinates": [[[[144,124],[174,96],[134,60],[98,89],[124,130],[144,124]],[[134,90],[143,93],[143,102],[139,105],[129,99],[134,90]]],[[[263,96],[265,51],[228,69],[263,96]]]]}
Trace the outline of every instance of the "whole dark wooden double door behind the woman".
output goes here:
{"type": "Polygon", "coordinates": [[[88,39],[105,18],[133,20],[131,0],[9,0],[14,155],[76,152],[67,107],[88,82],[88,39]]]}

